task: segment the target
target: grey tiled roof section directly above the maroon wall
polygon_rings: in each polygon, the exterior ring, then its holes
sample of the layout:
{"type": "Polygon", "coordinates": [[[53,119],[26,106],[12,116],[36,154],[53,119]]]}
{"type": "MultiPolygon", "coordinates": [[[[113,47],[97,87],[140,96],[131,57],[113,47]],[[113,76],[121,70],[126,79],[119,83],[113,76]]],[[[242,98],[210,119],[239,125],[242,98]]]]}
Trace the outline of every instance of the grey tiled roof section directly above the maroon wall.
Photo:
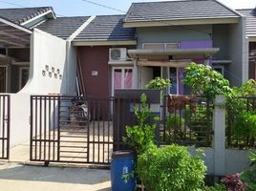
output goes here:
{"type": "Polygon", "coordinates": [[[123,28],[124,15],[99,15],[74,41],[129,41],[135,40],[135,29],[123,28]]]}

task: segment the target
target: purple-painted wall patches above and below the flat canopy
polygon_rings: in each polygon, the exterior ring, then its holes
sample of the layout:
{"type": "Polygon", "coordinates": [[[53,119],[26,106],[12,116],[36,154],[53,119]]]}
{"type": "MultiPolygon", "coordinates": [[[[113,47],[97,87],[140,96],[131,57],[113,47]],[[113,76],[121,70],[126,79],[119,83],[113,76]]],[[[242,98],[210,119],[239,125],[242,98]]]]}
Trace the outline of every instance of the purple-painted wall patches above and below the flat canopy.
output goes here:
{"type": "MultiPolygon", "coordinates": [[[[212,40],[204,40],[204,41],[181,41],[180,49],[196,49],[196,48],[212,48],[212,40]]],[[[193,59],[194,62],[204,64],[204,60],[193,59]]],[[[210,59],[210,66],[212,65],[212,61],[210,59]]],[[[179,94],[183,94],[183,69],[179,69],[179,94]]]]}

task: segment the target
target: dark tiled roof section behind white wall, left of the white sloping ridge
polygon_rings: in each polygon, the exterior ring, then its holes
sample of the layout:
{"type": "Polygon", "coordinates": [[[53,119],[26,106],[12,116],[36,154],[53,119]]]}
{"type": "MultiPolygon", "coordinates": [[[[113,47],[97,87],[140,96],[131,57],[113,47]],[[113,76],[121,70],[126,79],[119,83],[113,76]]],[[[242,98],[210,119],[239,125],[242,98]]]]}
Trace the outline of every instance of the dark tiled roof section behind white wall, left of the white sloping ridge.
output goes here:
{"type": "Polygon", "coordinates": [[[88,20],[89,16],[77,17],[57,17],[50,19],[37,26],[36,28],[44,32],[51,33],[63,39],[69,38],[84,22],[88,20]]]}

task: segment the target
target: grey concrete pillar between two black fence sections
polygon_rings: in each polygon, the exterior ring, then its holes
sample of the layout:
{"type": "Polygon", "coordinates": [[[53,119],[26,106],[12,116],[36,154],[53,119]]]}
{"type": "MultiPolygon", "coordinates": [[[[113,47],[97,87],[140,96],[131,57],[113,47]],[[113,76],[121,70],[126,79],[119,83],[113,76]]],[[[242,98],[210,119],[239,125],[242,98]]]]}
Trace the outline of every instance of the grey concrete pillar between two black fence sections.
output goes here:
{"type": "Polygon", "coordinates": [[[225,172],[225,109],[224,96],[216,96],[214,100],[214,174],[224,176],[225,172]]]}

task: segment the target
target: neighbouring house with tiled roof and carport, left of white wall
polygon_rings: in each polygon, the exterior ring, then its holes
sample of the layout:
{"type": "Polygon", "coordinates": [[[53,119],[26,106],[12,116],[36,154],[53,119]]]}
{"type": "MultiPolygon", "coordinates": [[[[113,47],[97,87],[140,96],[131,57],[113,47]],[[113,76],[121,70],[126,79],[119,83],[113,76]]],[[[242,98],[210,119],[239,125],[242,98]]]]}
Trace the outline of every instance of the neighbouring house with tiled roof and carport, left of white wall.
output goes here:
{"type": "Polygon", "coordinates": [[[28,81],[31,28],[55,18],[52,8],[0,9],[0,93],[17,93],[28,81]]]}

